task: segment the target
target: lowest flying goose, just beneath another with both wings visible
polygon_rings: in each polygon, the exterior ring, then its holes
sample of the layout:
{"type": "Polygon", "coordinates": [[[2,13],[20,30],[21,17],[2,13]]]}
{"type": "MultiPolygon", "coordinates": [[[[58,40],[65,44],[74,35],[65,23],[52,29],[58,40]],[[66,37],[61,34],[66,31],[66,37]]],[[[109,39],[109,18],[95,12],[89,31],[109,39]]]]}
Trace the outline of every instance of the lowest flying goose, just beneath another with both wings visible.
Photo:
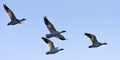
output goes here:
{"type": "Polygon", "coordinates": [[[45,42],[46,44],[48,44],[48,47],[49,47],[49,51],[46,52],[46,55],[55,54],[55,53],[57,53],[57,52],[59,52],[59,51],[64,50],[63,48],[60,48],[60,49],[59,49],[59,47],[55,47],[54,44],[53,44],[53,42],[50,41],[49,39],[47,39],[47,38],[45,38],[45,37],[41,37],[41,38],[44,40],[44,42],[45,42]]]}

